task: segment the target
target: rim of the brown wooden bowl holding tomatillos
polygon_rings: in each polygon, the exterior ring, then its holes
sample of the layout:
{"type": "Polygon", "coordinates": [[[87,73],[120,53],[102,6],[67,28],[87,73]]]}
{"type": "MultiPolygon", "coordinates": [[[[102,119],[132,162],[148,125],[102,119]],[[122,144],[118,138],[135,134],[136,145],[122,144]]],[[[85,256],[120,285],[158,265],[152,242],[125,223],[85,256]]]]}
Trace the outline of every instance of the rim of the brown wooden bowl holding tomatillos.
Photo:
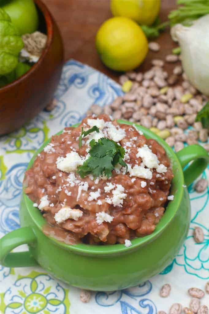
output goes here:
{"type": "Polygon", "coordinates": [[[52,15],[51,15],[50,11],[48,10],[48,8],[46,7],[46,5],[41,0],[34,0],[34,2],[35,2],[35,5],[39,8],[41,13],[43,14],[44,19],[45,19],[46,32],[47,32],[46,46],[45,46],[39,60],[37,62],[35,62],[35,64],[25,74],[23,74],[19,78],[15,79],[13,82],[1,87],[0,93],[6,92],[11,87],[21,83],[22,81],[27,79],[30,75],[32,75],[36,71],[36,69],[41,66],[43,59],[45,58],[46,54],[48,53],[48,51],[50,49],[52,39],[53,39],[53,18],[52,18],[52,15]]]}

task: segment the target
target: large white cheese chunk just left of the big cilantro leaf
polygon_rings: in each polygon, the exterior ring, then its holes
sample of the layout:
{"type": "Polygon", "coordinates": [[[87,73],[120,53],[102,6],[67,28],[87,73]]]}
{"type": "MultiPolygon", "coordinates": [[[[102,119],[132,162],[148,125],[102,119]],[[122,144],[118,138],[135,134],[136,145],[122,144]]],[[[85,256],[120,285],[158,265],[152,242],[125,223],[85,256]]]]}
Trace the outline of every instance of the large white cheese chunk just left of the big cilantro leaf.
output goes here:
{"type": "Polygon", "coordinates": [[[83,158],[76,152],[70,152],[66,157],[58,157],[56,160],[57,168],[65,172],[75,171],[81,165],[83,165],[83,158]]]}

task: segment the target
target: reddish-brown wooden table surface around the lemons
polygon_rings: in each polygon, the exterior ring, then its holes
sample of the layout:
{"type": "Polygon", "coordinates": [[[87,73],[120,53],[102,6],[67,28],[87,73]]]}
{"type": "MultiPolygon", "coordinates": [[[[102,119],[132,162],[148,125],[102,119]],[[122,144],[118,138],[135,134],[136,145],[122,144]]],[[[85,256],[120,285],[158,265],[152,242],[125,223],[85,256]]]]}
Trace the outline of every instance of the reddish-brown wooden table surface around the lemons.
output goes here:
{"type": "MultiPolygon", "coordinates": [[[[118,81],[120,73],[105,67],[95,49],[95,35],[99,26],[112,17],[109,0],[43,0],[54,16],[62,34],[65,60],[74,58],[86,63],[118,81]]],[[[149,1],[149,0],[147,0],[149,1]]],[[[176,0],[161,0],[160,18],[167,20],[168,13],[176,7],[176,0]]],[[[148,52],[140,71],[150,68],[153,58],[164,58],[176,44],[171,40],[169,29],[156,39],[160,52],[148,52]]],[[[172,65],[166,70],[171,72],[172,65]]]]}

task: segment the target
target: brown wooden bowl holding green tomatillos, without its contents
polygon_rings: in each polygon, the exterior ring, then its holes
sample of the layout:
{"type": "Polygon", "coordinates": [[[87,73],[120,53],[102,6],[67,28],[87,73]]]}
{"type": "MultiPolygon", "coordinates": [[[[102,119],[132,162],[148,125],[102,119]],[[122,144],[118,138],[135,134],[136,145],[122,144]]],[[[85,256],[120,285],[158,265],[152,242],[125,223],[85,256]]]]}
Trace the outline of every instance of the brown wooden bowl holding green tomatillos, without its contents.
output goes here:
{"type": "Polygon", "coordinates": [[[0,135],[32,119],[53,99],[63,65],[60,31],[46,5],[35,0],[39,30],[47,34],[46,47],[37,63],[23,76],[0,88],[0,135]]]}

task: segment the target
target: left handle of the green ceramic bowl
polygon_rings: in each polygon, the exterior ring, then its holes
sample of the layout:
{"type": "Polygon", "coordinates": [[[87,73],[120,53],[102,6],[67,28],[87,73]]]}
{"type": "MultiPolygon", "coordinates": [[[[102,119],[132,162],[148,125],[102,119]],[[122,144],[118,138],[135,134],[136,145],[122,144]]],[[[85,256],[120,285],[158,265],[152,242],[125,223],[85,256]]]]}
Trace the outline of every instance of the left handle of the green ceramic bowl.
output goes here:
{"type": "Polygon", "coordinates": [[[36,237],[30,227],[23,227],[9,232],[0,239],[0,264],[6,267],[38,265],[29,251],[10,253],[19,245],[34,242],[36,242],[36,237]]]}

